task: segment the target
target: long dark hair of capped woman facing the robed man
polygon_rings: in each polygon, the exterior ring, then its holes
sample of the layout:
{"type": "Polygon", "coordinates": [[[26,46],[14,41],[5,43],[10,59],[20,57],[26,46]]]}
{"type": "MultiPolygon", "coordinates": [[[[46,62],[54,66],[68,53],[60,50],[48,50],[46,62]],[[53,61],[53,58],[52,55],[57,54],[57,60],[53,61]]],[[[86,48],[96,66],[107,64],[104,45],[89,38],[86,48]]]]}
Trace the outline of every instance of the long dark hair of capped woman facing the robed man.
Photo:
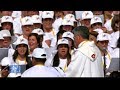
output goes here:
{"type": "MultiPolygon", "coordinates": [[[[67,52],[67,60],[68,60],[68,64],[70,63],[71,60],[71,55],[69,53],[69,46],[68,46],[68,52],[67,52]]],[[[53,58],[53,67],[57,67],[60,64],[60,60],[59,60],[59,56],[58,56],[58,52],[55,54],[54,58],[53,58]]]]}

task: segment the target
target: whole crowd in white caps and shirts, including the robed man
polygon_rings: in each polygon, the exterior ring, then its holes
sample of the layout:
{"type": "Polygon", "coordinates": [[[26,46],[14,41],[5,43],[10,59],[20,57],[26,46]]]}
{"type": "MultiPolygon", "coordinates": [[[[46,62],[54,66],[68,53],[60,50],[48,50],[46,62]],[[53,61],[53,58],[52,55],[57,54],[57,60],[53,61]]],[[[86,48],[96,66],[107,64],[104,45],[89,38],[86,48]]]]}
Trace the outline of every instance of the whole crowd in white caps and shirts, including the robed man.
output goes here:
{"type": "Polygon", "coordinates": [[[1,78],[120,77],[120,11],[0,11],[2,49],[1,78]]]}

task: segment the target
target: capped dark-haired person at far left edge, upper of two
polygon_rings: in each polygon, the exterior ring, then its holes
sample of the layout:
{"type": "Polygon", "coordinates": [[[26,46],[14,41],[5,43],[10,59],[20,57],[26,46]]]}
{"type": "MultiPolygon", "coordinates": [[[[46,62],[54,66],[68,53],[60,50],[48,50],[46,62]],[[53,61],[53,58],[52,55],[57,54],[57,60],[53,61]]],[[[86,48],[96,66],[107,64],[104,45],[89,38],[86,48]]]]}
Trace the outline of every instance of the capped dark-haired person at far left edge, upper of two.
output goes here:
{"type": "Polygon", "coordinates": [[[1,27],[2,30],[6,29],[10,31],[10,34],[13,36],[13,18],[11,16],[3,16],[1,18],[1,27]]]}

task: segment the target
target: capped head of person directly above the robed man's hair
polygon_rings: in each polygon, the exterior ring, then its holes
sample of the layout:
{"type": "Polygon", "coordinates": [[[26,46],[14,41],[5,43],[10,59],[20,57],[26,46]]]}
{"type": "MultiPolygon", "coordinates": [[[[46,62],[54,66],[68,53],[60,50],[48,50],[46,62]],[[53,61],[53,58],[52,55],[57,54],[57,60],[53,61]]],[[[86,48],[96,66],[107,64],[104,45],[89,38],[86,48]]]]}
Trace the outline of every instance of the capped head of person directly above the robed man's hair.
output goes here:
{"type": "Polygon", "coordinates": [[[82,19],[81,19],[81,25],[86,26],[90,29],[90,20],[93,18],[92,11],[83,11],[82,12],[82,19]]]}

